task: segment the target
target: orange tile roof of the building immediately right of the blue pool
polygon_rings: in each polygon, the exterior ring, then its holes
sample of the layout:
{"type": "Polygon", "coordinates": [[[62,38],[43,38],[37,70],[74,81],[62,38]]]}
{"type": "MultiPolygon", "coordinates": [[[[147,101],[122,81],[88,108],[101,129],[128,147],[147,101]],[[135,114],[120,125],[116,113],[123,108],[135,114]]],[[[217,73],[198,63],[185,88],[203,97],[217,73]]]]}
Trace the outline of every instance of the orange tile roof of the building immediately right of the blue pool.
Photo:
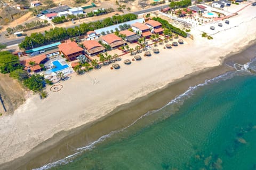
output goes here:
{"type": "Polygon", "coordinates": [[[65,55],[74,54],[83,51],[83,48],[79,47],[76,42],[62,43],[58,45],[59,50],[65,55]]]}

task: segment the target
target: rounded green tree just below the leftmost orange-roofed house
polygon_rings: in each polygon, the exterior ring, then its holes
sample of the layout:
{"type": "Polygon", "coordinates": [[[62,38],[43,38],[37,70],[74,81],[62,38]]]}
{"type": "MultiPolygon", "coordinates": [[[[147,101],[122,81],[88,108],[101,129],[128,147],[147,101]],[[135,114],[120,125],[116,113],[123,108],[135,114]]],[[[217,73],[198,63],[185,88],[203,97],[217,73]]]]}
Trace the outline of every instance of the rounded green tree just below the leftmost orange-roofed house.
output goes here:
{"type": "Polygon", "coordinates": [[[44,87],[44,76],[32,75],[30,78],[25,79],[23,84],[33,92],[41,91],[44,87]]]}

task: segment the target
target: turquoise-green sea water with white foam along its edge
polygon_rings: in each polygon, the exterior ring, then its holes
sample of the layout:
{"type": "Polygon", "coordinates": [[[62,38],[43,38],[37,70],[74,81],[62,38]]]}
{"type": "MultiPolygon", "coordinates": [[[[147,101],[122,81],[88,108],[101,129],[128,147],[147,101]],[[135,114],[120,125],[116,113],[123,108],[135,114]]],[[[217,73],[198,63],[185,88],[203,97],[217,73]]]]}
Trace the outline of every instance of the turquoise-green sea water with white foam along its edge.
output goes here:
{"type": "Polygon", "coordinates": [[[40,169],[256,169],[256,75],[242,69],[207,80],[40,169]]]}

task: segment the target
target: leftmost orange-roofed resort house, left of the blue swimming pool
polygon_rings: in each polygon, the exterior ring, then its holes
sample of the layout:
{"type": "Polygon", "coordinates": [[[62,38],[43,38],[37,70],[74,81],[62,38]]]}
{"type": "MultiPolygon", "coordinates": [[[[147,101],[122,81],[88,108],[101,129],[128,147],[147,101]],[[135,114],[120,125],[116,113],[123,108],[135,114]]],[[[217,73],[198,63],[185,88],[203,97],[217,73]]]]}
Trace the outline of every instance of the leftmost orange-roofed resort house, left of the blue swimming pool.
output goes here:
{"type": "Polygon", "coordinates": [[[42,69],[40,64],[44,63],[45,61],[47,61],[47,57],[45,54],[43,54],[34,56],[33,58],[27,60],[23,60],[20,63],[25,67],[25,70],[38,72],[42,69]],[[30,62],[34,62],[34,64],[31,65],[30,62]]]}

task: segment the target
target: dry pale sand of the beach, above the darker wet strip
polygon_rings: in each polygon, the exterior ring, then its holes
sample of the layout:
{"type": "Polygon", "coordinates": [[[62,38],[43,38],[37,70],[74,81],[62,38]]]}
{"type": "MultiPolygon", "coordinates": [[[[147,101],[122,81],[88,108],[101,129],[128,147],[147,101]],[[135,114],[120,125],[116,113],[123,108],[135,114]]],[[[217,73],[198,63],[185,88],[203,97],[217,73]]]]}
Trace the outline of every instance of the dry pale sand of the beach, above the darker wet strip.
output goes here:
{"type": "MultiPolygon", "coordinates": [[[[13,115],[0,119],[0,164],[22,157],[58,132],[100,119],[117,106],[186,75],[219,66],[225,56],[256,39],[255,9],[246,7],[223,27],[217,23],[195,27],[191,29],[194,41],[186,38],[185,44],[170,50],[158,45],[159,54],[151,52],[152,56],[142,56],[141,61],[132,61],[130,65],[123,63],[132,58],[127,54],[119,62],[121,69],[111,70],[106,66],[85,75],[72,74],[70,80],[59,83],[63,86],[59,92],[51,92],[47,87],[49,96],[44,100],[31,95],[13,115]],[[209,29],[212,25],[214,31],[209,29]],[[201,37],[202,31],[213,39],[201,37]]],[[[8,166],[11,165],[0,165],[0,169],[9,169],[8,166]]]]}

